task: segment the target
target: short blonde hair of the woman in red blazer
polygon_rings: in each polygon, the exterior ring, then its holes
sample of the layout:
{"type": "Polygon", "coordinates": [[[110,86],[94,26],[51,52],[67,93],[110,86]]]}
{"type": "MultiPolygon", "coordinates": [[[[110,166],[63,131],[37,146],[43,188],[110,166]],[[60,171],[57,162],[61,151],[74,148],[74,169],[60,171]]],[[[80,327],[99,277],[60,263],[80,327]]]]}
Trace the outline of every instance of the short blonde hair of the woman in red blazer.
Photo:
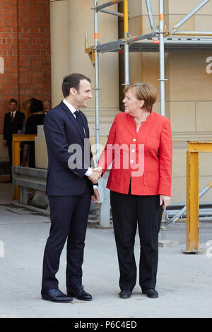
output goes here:
{"type": "Polygon", "coordinates": [[[158,97],[157,90],[153,84],[147,82],[133,82],[126,85],[124,93],[129,89],[134,90],[134,95],[138,100],[145,101],[143,107],[149,110],[153,108],[153,104],[155,104],[158,97]]]}

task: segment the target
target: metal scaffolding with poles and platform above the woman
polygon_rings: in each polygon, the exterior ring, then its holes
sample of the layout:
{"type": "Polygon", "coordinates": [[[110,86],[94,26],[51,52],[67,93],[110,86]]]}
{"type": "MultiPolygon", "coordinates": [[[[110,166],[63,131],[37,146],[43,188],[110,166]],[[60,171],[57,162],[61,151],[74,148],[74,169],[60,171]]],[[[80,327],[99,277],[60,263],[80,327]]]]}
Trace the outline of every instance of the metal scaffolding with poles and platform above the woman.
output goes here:
{"type": "Polygon", "coordinates": [[[124,52],[124,84],[129,85],[129,52],[159,52],[160,53],[160,114],[165,116],[165,52],[172,51],[194,51],[201,52],[212,50],[212,32],[208,31],[178,31],[179,28],[192,18],[209,0],[201,1],[182,20],[179,20],[170,30],[164,27],[164,0],[159,1],[159,27],[155,28],[151,0],[146,1],[148,19],[151,31],[145,35],[132,36],[129,33],[129,0],[113,0],[105,4],[98,5],[98,0],[94,0],[94,41],[93,47],[88,47],[88,31],[85,34],[86,53],[95,67],[95,143],[96,157],[100,156],[100,84],[99,84],[99,56],[105,52],[124,52]],[[114,4],[124,2],[124,13],[105,9],[114,4]],[[119,40],[100,44],[98,30],[98,14],[107,13],[109,15],[124,18],[124,37],[119,40]]]}

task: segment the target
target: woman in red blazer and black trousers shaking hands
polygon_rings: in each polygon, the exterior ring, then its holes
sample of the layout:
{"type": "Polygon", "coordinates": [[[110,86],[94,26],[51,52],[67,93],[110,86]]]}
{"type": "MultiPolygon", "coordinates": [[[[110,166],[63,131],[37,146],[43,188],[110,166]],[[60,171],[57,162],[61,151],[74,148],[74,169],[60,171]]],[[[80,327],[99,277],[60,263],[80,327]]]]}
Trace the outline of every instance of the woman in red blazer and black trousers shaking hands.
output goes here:
{"type": "Polygon", "coordinates": [[[119,297],[129,298],[136,285],[134,242],[138,225],[139,285],[144,294],[155,298],[158,232],[163,208],[171,196],[170,120],[152,111],[157,99],[153,85],[131,83],[124,93],[125,112],[114,119],[98,167],[104,174],[112,162],[107,188],[119,260],[119,297]]]}

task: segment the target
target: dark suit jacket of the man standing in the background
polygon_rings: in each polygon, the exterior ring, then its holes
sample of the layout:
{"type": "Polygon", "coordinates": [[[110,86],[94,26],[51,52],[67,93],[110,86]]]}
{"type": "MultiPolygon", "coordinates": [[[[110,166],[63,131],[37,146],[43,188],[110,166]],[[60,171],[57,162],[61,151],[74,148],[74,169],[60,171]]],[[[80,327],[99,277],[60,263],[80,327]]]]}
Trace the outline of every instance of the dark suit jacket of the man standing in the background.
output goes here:
{"type": "Polygon", "coordinates": [[[18,134],[18,130],[22,129],[24,114],[16,111],[16,115],[11,122],[11,112],[8,112],[4,116],[4,141],[12,141],[13,134],[18,134]]]}

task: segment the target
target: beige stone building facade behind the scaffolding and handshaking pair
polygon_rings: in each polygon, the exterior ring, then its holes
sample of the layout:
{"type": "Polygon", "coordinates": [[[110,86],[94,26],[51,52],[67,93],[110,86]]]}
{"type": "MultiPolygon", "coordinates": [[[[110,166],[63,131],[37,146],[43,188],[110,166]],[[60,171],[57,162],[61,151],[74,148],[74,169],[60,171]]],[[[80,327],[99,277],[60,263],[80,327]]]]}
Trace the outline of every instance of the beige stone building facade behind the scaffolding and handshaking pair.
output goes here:
{"type": "MultiPolygon", "coordinates": [[[[98,1],[98,4],[107,1],[98,1]]],[[[152,0],[155,26],[158,25],[158,0],[152,0]]],[[[200,0],[165,0],[165,29],[172,28],[200,0]]],[[[93,45],[93,0],[50,0],[52,52],[52,106],[62,100],[61,82],[71,72],[81,72],[92,80],[94,68],[85,53],[84,32],[88,30],[89,45],[93,45]]],[[[119,10],[122,8],[119,5],[119,10]]],[[[110,7],[118,11],[118,5],[110,7]]],[[[101,43],[124,37],[123,21],[116,16],[99,13],[101,43]]],[[[182,25],[179,30],[212,31],[212,1],[182,25]]],[[[129,32],[143,35],[151,32],[146,1],[129,0],[129,32]]],[[[170,52],[165,54],[165,112],[172,125],[173,182],[172,203],[186,201],[187,141],[212,141],[212,73],[208,70],[211,52],[170,52]]],[[[211,60],[210,60],[211,58],[211,60]]],[[[212,67],[212,66],[211,66],[212,67]]],[[[160,113],[159,54],[134,53],[129,56],[130,81],[148,81],[158,88],[158,100],[153,107],[160,113]]],[[[124,64],[122,54],[100,54],[100,142],[107,140],[112,121],[120,112],[124,64]]],[[[84,112],[90,124],[91,141],[95,143],[95,90],[93,100],[84,112]]],[[[37,167],[47,167],[45,137],[42,130],[36,138],[37,167]]],[[[212,154],[200,157],[200,190],[212,180],[212,154]]],[[[212,192],[201,198],[212,201],[212,192]]]]}

